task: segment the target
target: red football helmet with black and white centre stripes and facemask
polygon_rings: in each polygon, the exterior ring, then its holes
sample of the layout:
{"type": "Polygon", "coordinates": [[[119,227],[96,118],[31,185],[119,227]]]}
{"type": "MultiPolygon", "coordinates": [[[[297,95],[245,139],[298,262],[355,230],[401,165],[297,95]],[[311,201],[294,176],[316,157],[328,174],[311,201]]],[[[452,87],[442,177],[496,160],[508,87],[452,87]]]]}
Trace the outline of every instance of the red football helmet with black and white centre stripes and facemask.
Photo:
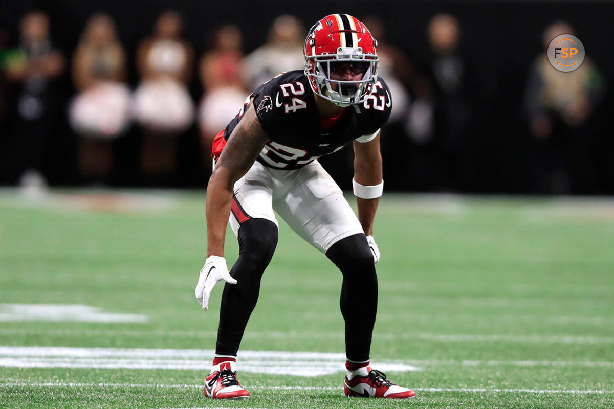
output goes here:
{"type": "Polygon", "coordinates": [[[360,104],[375,91],[379,57],[377,42],[367,27],[348,14],[331,14],[318,21],[307,34],[303,54],[305,75],[311,88],[341,107],[360,104]],[[351,72],[360,80],[333,80],[331,72],[351,72]]]}

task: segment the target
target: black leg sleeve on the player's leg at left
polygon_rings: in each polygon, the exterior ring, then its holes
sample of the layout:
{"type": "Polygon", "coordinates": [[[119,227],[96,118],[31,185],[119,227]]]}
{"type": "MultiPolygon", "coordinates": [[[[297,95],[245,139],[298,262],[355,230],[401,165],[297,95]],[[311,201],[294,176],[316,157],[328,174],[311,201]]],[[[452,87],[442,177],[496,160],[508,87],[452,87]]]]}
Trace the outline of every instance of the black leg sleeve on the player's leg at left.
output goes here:
{"type": "Polygon", "coordinates": [[[277,247],[278,228],[265,219],[250,219],[239,227],[239,258],[230,269],[237,280],[226,284],[222,293],[216,354],[236,356],[243,332],[254,311],[260,279],[277,247]]]}

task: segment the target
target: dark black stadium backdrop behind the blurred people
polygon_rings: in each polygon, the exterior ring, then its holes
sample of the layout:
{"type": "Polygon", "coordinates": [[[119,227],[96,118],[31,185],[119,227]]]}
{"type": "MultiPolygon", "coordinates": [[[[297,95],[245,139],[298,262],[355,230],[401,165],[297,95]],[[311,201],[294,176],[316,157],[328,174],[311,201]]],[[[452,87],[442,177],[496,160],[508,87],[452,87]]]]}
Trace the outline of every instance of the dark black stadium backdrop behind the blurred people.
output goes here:
{"type": "MultiPolygon", "coordinates": [[[[472,124],[467,160],[472,164],[464,175],[461,191],[466,193],[534,193],[529,172],[530,136],[523,121],[521,101],[527,72],[535,55],[540,52],[540,38],[546,25],[556,20],[569,21],[586,47],[596,66],[604,75],[605,95],[598,112],[587,124],[591,132],[595,180],[581,186],[575,193],[614,194],[614,133],[610,128],[614,112],[614,55],[608,40],[612,37],[611,21],[614,4],[608,1],[194,1],[173,2],[152,0],[0,0],[0,26],[9,34],[9,45],[17,39],[18,19],[26,11],[42,9],[50,16],[52,39],[69,60],[76,47],[85,21],[94,12],[111,14],[117,24],[120,40],[128,52],[130,85],[137,82],[134,54],[139,40],[149,34],[157,15],[166,9],[178,10],[185,19],[185,32],[196,54],[206,50],[208,34],[224,23],[235,23],[244,34],[244,52],[261,45],[274,18],[289,13],[305,26],[333,12],[344,12],[358,18],[374,16],[386,23],[387,40],[403,50],[417,64],[426,54],[426,26],[438,12],[455,15],[462,28],[461,47],[472,61],[477,78],[473,110],[479,118],[472,124]]],[[[58,87],[63,104],[74,94],[68,72],[58,87]]],[[[195,101],[201,96],[196,76],[190,86],[195,101]]],[[[6,153],[9,129],[14,118],[9,94],[9,110],[0,123],[0,150],[6,153]]],[[[76,169],[76,136],[66,121],[66,109],[60,104],[55,123],[55,140],[47,147],[44,174],[52,186],[82,185],[76,169]]],[[[401,137],[389,132],[383,142],[385,180],[389,189],[437,191],[429,183],[429,175],[418,168],[405,166],[411,147],[401,137]]],[[[139,186],[133,160],[138,150],[138,131],[118,140],[119,155],[113,186],[139,186]]],[[[201,170],[196,125],[181,137],[180,166],[173,187],[206,186],[206,174],[201,170]]],[[[2,153],[0,183],[14,185],[11,164],[2,153]]],[[[322,159],[340,185],[348,188],[351,170],[346,154],[322,159]],[[343,160],[340,160],[342,158],[343,160]]],[[[168,186],[167,186],[168,187],[168,186]]]]}

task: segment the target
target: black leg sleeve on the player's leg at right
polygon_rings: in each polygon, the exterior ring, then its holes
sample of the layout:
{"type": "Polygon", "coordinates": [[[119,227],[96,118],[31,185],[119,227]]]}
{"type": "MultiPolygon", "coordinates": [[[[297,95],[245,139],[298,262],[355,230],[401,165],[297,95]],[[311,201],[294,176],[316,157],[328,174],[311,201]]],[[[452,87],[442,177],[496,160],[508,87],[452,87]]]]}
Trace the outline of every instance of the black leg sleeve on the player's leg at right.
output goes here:
{"type": "Polygon", "coordinates": [[[340,305],[346,324],[346,356],[351,361],[368,361],[378,308],[378,278],[367,238],[355,234],[339,240],[326,256],[343,273],[340,305]]]}

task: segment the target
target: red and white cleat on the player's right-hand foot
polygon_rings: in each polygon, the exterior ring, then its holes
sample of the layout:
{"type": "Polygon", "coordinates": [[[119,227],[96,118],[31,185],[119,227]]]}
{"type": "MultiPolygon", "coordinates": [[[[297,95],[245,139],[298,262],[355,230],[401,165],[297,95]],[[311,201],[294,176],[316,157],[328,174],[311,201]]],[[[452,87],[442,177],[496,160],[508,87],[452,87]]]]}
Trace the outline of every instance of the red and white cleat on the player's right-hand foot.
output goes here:
{"type": "Polygon", "coordinates": [[[389,397],[396,399],[408,399],[416,396],[416,392],[403,388],[387,380],[386,373],[366,368],[367,376],[355,375],[351,380],[345,378],[343,392],[345,396],[361,397],[389,397]]]}

